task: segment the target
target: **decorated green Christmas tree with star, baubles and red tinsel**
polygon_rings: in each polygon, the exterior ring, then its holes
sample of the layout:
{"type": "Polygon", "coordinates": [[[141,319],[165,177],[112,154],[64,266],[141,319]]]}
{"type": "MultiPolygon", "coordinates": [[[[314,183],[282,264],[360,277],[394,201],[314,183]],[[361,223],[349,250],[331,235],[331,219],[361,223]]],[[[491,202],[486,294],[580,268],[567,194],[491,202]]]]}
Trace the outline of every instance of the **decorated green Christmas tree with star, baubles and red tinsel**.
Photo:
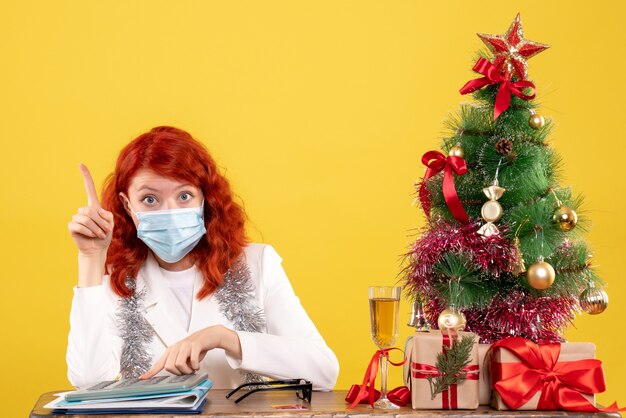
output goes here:
{"type": "Polygon", "coordinates": [[[527,60],[548,45],[524,38],[519,15],[506,33],[478,36],[489,51],[461,89],[474,102],[447,121],[443,152],[422,157],[428,223],[407,255],[406,289],[439,328],[464,325],[485,343],[562,341],[577,312],[600,313],[608,298],[528,80],[527,60]]]}

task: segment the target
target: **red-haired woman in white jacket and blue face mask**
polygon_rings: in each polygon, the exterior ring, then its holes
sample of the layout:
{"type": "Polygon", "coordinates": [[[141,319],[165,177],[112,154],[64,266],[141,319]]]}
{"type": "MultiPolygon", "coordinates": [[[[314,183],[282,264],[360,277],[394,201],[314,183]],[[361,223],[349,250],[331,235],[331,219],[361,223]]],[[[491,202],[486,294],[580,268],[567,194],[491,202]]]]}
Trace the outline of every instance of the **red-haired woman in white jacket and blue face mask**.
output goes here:
{"type": "Polygon", "coordinates": [[[247,244],[244,213],[207,150],[172,127],[120,153],[102,205],[69,230],[78,247],[67,349],[76,387],[203,371],[216,388],[304,378],[333,388],[339,366],[269,245],[247,244]]]}

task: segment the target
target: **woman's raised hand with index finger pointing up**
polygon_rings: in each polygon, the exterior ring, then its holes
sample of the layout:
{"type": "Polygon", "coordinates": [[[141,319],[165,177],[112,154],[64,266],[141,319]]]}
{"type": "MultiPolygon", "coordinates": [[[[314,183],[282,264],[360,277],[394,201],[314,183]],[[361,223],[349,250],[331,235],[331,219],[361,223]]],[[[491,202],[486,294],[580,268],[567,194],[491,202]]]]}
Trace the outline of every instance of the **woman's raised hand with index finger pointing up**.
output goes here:
{"type": "Polygon", "coordinates": [[[107,249],[113,237],[113,214],[102,208],[91,173],[80,165],[87,192],[87,206],[78,209],[68,224],[78,247],[78,285],[102,283],[107,249]]]}

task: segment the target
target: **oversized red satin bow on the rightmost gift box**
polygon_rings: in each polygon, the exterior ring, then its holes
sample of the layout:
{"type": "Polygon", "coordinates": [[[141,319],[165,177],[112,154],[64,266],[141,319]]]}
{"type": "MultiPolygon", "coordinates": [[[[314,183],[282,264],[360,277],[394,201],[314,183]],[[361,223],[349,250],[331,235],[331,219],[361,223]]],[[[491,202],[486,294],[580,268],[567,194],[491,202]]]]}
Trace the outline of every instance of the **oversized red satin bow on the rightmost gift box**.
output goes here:
{"type": "Polygon", "coordinates": [[[624,410],[616,403],[607,408],[596,408],[582,395],[604,392],[606,385],[600,360],[558,362],[560,344],[537,345],[520,337],[500,340],[491,346],[489,352],[496,348],[504,348],[521,360],[521,363],[491,363],[494,390],[509,408],[519,408],[541,391],[537,410],[624,410]]]}

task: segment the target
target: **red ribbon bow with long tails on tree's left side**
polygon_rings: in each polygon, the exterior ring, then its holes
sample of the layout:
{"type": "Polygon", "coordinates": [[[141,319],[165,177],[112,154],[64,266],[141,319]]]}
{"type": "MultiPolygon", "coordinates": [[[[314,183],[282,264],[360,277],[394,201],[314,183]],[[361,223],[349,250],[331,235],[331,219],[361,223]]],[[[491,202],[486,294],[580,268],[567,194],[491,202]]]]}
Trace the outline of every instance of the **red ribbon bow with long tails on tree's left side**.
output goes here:
{"type": "Polygon", "coordinates": [[[426,212],[426,216],[430,215],[430,196],[425,184],[426,180],[439,173],[441,170],[444,170],[443,197],[446,201],[446,205],[448,205],[450,213],[452,213],[452,216],[454,216],[457,221],[462,224],[467,224],[469,222],[469,216],[467,216],[465,209],[463,209],[463,205],[461,205],[459,196],[456,193],[453,174],[456,173],[462,176],[467,172],[465,160],[462,157],[453,155],[446,157],[439,151],[428,151],[422,156],[422,164],[428,167],[419,190],[420,202],[424,212],[426,212]]]}

